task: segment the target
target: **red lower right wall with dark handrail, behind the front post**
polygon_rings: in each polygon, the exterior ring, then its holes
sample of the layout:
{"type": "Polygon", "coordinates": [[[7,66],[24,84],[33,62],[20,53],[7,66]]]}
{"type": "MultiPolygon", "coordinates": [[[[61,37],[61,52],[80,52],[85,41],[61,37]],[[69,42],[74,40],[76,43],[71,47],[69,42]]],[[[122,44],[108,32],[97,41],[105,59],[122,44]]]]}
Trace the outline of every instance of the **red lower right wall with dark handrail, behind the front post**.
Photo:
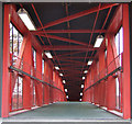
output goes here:
{"type": "Polygon", "coordinates": [[[122,112],[122,57],[123,54],[118,55],[106,68],[95,74],[92,79],[86,79],[84,101],[106,106],[108,110],[122,112]]]}

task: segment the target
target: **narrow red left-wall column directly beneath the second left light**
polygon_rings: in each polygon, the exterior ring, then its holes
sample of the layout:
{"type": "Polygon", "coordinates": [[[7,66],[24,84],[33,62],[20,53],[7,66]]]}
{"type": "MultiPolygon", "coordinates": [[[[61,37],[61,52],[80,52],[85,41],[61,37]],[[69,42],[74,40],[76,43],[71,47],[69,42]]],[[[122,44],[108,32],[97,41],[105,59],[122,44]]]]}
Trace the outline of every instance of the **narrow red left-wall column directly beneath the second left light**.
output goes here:
{"type": "MultiPolygon", "coordinates": [[[[45,60],[45,64],[44,64],[44,77],[45,77],[45,81],[48,82],[48,63],[47,63],[47,60],[45,60]]],[[[50,103],[50,87],[47,84],[44,84],[44,101],[45,101],[45,104],[50,103]]]]}

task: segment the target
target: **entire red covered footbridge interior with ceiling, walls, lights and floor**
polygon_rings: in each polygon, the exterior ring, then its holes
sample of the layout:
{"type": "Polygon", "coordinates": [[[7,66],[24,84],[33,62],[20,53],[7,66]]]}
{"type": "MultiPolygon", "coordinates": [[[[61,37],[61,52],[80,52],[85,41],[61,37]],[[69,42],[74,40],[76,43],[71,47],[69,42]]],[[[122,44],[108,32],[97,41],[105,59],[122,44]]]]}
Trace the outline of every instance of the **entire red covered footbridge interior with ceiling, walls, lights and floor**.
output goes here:
{"type": "Polygon", "coordinates": [[[2,117],[130,119],[128,3],[3,7],[2,117]]]}

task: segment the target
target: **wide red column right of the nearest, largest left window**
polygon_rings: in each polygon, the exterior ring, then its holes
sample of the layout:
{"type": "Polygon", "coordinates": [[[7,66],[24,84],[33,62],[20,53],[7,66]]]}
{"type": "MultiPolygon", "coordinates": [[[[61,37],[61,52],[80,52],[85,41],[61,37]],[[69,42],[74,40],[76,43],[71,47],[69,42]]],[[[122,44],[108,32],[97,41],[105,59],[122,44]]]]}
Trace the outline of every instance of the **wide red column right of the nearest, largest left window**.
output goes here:
{"type": "MultiPolygon", "coordinates": [[[[31,74],[31,66],[32,66],[32,43],[31,43],[31,36],[28,36],[28,43],[25,45],[25,49],[23,53],[23,70],[28,74],[31,74]]],[[[31,84],[31,78],[24,77],[23,78],[23,108],[24,109],[31,109],[32,106],[32,84],[31,84]]]]}

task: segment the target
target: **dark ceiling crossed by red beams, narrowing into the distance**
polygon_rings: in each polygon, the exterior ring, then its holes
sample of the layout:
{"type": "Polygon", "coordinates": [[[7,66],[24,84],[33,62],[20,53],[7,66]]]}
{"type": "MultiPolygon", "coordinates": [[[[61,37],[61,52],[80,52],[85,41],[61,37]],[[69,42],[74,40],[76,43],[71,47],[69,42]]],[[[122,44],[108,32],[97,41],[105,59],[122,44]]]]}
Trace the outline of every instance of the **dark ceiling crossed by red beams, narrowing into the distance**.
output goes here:
{"type": "Polygon", "coordinates": [[[61,68],[66,80],[69,101],[78,101],[87,61],[95,59],[96,37],[105,35],[117,3],[21,3],[31,15],[37,31],[32,32],[44,50],[53,55],[53,64],[61,68]]]}

